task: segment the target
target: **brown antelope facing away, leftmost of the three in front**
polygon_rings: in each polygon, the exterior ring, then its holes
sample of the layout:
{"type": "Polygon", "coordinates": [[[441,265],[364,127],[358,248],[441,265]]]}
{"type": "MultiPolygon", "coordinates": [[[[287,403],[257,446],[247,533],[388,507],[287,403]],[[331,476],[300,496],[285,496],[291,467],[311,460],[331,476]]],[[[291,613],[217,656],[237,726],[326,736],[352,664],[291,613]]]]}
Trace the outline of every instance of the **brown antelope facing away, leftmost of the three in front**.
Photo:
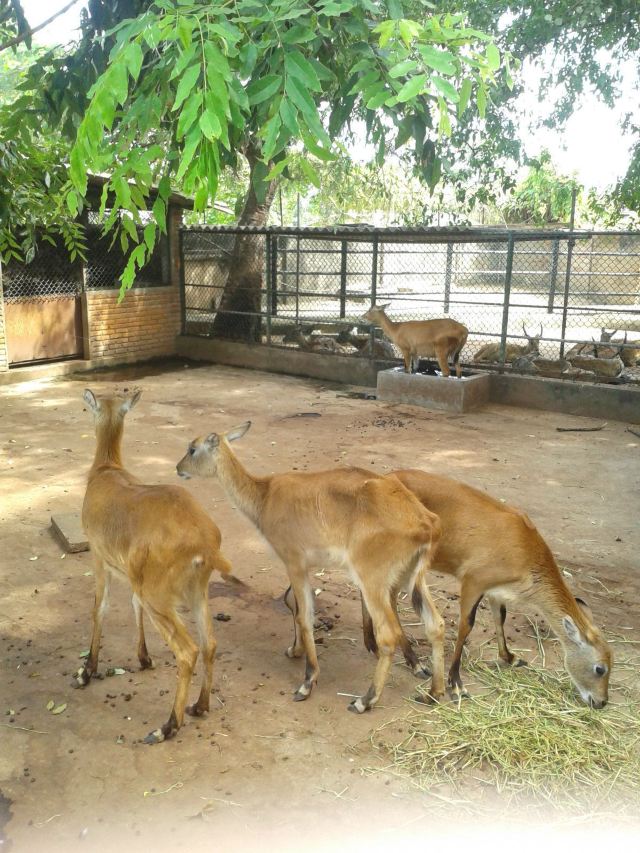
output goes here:
{"type": "Polygon", "coordinates": [[[133,592],[141,668],[153,667],[143,613],[164,637],[178,665],[178,687],[169,719],[145,738],[146,743],[156,744],[173,737],[184,721],[198,648],[203,662],[202,688],[186,712],[199,717],[209,710],[216,652],[207,602],[209,576],[215,569],[224,579],[234,578],[230,563],[220,552],[220,531],[189,492],[180,486],[145,485],[124,468],[124,418],[140,394],[98,399],[89,389],[84,392],[97,437],[82,506],[82,524],[95,562],[96,594],[91,650],[72,684],[85,687],[97,672],[109,586],[112,576],[119,575],[129,581],[133,592]],[[178,615],[181,606],[190,607],[195,616],[198,644],[178,615]]]}

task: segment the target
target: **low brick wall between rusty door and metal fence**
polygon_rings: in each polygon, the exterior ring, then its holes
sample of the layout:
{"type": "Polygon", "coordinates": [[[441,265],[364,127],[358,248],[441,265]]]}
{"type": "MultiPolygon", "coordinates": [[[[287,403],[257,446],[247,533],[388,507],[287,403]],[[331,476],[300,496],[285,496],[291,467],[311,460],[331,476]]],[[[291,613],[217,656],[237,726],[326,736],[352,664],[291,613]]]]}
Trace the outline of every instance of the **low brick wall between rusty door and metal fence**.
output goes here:
{"type": "Polygon", "coordinates": [[[104,363],[142,361],[176,351],[180,294],[175,286],[87,291],[85,358],[104,363]]]}

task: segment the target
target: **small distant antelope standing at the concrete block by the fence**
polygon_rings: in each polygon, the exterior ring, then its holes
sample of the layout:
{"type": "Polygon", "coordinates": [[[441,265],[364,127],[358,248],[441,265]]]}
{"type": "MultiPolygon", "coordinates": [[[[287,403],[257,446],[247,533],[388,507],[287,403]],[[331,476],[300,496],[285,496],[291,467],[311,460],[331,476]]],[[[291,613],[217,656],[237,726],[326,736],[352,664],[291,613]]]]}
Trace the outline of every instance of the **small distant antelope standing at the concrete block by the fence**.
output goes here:
{"type": "Polygon", "coordinates": [[[409,320],[396,323],[387,317],[386,305],[373,305],[363,320],[380,326],[385,335],[402,352],[407,373],[414,372],[420,356],[438,360],[443,376],[450,376],[449,356],[453,356],[458,379],[462,376],[460,353],[467,342],[469,330],[457,320],[409,320]]]}

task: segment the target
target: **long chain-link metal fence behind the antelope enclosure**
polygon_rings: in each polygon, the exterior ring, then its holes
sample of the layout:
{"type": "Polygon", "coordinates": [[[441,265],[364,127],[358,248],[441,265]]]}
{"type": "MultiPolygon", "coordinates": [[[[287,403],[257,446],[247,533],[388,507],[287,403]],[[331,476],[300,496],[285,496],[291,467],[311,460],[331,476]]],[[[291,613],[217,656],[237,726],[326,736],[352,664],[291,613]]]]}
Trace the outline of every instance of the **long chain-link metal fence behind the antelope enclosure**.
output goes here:
{"type": "Polygon", "coordinates": [[[394,320],[459,320],[463,363],[495,343],[500,369],[528,337],[548,359],[603,329],[640,337],[636,232],[203,227],[181,232],[181,254],[187,334],[312,347],[317,332],[380,335],[362,315],[388,303],[394,320]]]}

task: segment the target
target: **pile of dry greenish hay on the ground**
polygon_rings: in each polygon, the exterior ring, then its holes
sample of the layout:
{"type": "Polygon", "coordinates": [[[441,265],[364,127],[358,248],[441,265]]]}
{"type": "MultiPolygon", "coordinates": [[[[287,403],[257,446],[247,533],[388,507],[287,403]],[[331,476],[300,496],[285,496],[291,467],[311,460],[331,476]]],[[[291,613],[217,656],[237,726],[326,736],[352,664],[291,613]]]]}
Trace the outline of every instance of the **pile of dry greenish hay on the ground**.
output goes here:
{"type": "Polygon", "coordinates": [[[593,711],[564,674],[483,661],[467,672],[476,695],[416,705],[401,743],[386,742],[388,726],[374,734],[391,757],[384,770],[469,813],[493,808],[498,794],[502,806],[515,802],[527,811],[637,817],[640,716],[628,692],[593,711]]]}

